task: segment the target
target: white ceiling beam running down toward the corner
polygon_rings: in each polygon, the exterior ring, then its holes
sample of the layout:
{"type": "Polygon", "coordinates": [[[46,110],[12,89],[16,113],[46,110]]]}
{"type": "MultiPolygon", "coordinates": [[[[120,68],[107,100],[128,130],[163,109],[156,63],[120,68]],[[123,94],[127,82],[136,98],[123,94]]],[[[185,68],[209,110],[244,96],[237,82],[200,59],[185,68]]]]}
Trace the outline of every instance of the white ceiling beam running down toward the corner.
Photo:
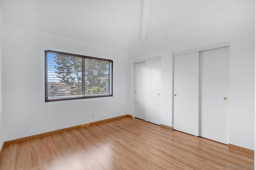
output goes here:
{"type": "Polygon", "coordinates": [[[147,28],[148,28],[149,8],[150,8],[150,0],[143,0],[141,38],[140,38],[140,40],[142,42],[146,40],[147,28]]]}

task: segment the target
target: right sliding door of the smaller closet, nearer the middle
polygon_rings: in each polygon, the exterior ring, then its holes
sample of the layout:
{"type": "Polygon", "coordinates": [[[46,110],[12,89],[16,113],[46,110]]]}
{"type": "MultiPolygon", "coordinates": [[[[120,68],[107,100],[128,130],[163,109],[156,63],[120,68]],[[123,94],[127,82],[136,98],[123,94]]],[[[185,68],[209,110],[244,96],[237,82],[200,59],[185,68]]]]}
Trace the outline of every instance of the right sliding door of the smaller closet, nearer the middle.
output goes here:
{"type": "Polygon", "coordinates": [[[160,125],[161,59],[146,61],[145,120],[160,125]]]}

